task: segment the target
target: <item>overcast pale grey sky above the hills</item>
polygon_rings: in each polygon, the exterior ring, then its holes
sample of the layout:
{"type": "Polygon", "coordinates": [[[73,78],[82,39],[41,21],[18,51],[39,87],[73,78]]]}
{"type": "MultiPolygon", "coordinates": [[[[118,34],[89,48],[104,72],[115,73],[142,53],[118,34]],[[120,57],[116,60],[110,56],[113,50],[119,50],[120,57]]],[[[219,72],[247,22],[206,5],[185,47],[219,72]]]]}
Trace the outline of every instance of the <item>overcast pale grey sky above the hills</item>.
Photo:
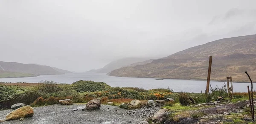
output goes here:
{"type": "Polygon", "coordinates": [[[70,71],[256,34],[256,0],[0,0],[0,61],[70,71]]]}

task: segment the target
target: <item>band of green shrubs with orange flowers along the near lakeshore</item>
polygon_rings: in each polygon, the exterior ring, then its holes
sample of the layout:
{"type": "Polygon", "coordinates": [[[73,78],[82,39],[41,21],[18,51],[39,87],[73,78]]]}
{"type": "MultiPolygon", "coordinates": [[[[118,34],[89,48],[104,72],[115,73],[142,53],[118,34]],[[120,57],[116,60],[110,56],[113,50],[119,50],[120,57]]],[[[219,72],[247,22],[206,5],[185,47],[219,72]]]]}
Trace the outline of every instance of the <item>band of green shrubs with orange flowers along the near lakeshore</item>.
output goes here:
{"type": "MultiPolygon", "coordinates": [[[[2,83],[4,84],[4,83],[2,83]]],[[[104,82],[77,81],[73,84],[58,84],[53,81],[41,81],[33,87],[18,83],[20,86],[0,84],[0,108],[10,108],[12,104],[23,102],[25,104],[44,106],[58,104],[60,99],[71,99],[75,103],[84,103],[93,98],[102,98],[102,103],[108,101],[119,105],[130,102],[132,99],[163,100],[174,98],[178,93],[170,89],[146,90],[137,87],[110,87],[104,82]]]]}

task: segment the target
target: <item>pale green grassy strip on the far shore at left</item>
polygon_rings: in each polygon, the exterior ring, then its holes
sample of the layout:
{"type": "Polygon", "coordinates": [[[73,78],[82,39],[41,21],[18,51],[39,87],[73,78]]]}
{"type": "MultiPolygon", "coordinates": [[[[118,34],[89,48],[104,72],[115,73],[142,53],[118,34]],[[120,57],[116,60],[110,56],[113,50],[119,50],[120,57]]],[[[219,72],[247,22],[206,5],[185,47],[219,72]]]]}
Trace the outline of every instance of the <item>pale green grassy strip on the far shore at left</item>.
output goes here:
{"type": "Polygon", "coordinates": [[[21,72],[8,72],[0,71],[0,78],[24,78],[24,77],[35,77],[36,75],[21,72]]]}

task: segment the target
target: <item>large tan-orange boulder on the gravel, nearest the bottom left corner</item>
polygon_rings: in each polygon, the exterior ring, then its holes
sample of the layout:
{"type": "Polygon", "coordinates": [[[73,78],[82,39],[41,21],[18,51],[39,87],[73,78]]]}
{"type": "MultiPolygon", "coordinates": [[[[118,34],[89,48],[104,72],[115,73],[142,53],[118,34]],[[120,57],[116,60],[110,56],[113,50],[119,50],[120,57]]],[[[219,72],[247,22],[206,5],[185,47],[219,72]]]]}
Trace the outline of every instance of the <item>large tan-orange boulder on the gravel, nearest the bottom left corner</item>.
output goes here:
{"type": "Polygon", "coordinates": [[[32,107],[29,105],[20,107],[16,110],[13,110],[10,112],[8,115],[6,115],[6,121],[8,120],[17,120],[20,118],[25,118],[25,117],[32,117],[34,115],[34,110],[32,107]]]}

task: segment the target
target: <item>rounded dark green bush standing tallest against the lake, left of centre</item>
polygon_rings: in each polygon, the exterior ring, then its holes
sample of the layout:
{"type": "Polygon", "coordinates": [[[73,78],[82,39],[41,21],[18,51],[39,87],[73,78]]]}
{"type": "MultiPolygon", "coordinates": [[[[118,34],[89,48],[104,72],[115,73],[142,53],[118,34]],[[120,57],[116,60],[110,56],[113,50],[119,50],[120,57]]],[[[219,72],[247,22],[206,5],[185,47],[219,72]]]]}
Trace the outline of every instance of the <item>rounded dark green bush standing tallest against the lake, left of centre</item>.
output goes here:
{"type": "Polygon", "coordinates": [[[80,80],[72,83],[72,85],[77,92],[95,92],[111,89],[111,87],[104,82],[80,80]]]}

